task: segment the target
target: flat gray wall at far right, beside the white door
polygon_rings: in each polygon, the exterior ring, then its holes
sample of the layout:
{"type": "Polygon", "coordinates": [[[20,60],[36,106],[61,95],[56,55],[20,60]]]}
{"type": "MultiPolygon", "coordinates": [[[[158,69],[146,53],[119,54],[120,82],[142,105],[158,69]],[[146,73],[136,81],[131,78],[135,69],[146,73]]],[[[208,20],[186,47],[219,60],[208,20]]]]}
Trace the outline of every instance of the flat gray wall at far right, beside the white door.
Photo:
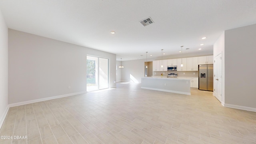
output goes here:
{"type": "Polygon", "coordinates": [[[225,31],[225,103],[256,108],[256,24],[225,31]],[[241,73],[242,72],[242,73],[241,73]]]}

